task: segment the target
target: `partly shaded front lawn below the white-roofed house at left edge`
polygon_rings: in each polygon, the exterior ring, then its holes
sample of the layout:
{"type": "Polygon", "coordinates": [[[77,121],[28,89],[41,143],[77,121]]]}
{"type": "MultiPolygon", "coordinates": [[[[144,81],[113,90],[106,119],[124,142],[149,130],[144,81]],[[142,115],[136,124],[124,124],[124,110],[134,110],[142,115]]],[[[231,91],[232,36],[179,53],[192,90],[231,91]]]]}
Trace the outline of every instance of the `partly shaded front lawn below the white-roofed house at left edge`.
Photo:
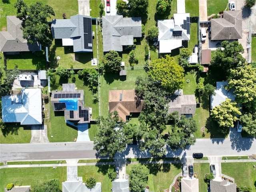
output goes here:
{"type": "Polygon", "coordinates": [[[29,143],[30,140],[30,126],[21,126],[18,123],[8,123],[4,130],[0,129],[1,143],[29,143]]]}

